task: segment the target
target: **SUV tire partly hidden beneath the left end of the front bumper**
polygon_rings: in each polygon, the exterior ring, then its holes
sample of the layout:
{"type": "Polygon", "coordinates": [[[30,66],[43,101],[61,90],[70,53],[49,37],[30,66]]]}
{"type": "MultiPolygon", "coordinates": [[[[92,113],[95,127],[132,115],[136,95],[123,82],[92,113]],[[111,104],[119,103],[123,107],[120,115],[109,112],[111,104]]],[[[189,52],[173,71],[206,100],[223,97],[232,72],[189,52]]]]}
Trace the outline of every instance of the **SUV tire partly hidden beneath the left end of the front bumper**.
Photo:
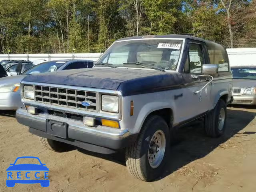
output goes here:
{"type": "Polygon", "coordinates": [[[69,144],[66,144],[63,142],[59,142],[59,141],[55,141],[55,140],[51,140],[51,139],[46,139],[43,137],[40,137],[40,141],[46,149],[54,151],[54,152],[58,152],[58,153],[72,151],[75,148],[72,145],[69,145],[69,144]]]}

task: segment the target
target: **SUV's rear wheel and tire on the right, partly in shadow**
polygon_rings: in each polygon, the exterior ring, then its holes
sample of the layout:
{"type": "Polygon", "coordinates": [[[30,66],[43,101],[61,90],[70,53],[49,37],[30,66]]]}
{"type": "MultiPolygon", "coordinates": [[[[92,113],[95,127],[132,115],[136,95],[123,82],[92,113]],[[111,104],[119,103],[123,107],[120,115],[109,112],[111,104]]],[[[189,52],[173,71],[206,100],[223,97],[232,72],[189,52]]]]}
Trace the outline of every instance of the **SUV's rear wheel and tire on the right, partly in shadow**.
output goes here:
{"type": "Polygon", "coordinates": [[[207,136],[216,138],[226,130],[227,107],[224,100],[220,99],[215,108],[204,119],[204,128],[207,136]]]}

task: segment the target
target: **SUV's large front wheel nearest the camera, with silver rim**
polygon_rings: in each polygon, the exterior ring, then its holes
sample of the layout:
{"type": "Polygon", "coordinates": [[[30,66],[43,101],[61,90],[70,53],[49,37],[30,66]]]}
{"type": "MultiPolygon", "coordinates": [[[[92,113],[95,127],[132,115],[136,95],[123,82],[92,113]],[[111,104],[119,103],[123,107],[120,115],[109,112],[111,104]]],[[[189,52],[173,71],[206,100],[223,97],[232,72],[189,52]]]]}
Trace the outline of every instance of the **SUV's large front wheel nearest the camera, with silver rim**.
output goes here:
{"type": "Polygon", "coordinates": [[[160,116],[151,116],[134,144],[126,148],[126,166],[135,178],[152,181],[162,174],[169,152],[169,127],[160,116]]]}

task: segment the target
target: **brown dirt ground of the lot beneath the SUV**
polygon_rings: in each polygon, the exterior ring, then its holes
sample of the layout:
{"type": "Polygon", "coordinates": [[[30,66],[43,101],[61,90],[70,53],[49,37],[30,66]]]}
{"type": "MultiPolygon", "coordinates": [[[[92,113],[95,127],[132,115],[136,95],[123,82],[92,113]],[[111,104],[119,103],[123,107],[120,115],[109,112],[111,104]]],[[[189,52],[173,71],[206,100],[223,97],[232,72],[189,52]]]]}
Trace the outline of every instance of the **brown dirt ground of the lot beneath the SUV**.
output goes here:
{"type": "Polygon", "coordinates": [[[162,177],[143,182],[130,176],[120,155],[101,156],[82,150],[54,153],[18,124],[13,112],[0,112],[0,192],[255,192],[256,109],[228,108],[225,136],[204,136],[202,122],[182,128],[162,177]],[[50,169],[50,186],[6,187],[10,163],[19,156],[37,156],[50,169]]]}

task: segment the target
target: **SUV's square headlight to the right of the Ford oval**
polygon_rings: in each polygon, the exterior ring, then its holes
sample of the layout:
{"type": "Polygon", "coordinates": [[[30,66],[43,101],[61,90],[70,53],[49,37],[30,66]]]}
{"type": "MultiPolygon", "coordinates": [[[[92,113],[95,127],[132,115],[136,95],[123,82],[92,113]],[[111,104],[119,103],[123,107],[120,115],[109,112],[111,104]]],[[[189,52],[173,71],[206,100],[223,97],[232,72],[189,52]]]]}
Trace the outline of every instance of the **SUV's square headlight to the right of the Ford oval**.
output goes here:
{"type": "Polygon", "coordinates": [[[101,109],[102,111],[118,113],[118,109],[119,109],[118,96],[102,95],[101,109]]]}

